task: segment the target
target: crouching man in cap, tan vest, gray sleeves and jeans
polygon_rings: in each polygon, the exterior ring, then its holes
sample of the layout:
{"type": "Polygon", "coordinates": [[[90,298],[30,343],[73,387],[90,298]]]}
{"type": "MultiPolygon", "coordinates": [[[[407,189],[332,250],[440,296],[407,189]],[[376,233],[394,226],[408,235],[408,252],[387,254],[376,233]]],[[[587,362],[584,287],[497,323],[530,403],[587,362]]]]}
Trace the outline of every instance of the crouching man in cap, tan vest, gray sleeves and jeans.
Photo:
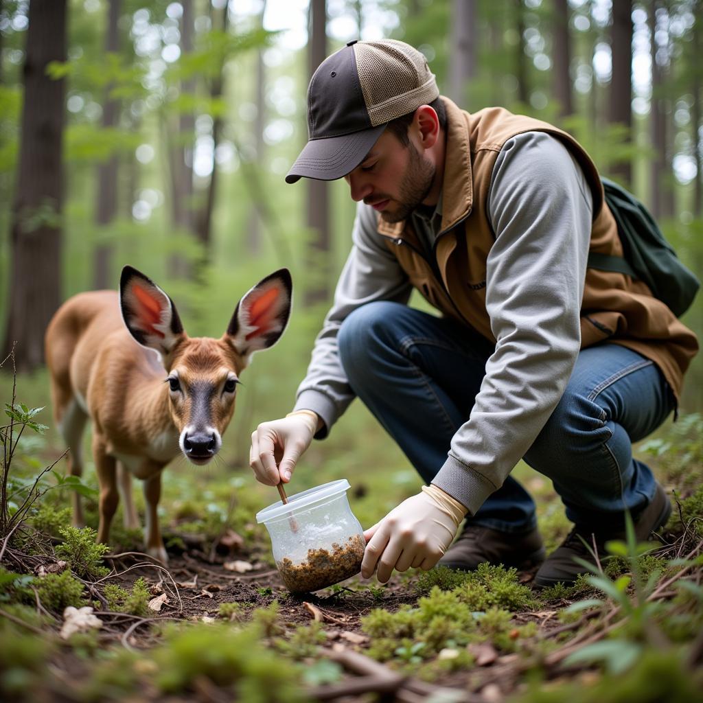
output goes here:
{"type": "Polygon", "coordinates": [[[537,586],[572,583],[581,538],[621,537],[626,511],[639,538],[662,527],[671,504],[631,443],[676,407],[697,341],[644,283],[586,268],[622,247],[581,146],[501,108],[463,112],[391,40],[318,67],[308,124],[286,181],[344,177],[359,208],[294,411],[252,434],[257,479],[288,482],[359,396],[428,483],[366,531],[367,578],[543,562],[537,586]],[[406,306],[413,287],[441,317],[406,306]],[[510,477],[520,458],[574,522],[546,561],[510,477]]]}

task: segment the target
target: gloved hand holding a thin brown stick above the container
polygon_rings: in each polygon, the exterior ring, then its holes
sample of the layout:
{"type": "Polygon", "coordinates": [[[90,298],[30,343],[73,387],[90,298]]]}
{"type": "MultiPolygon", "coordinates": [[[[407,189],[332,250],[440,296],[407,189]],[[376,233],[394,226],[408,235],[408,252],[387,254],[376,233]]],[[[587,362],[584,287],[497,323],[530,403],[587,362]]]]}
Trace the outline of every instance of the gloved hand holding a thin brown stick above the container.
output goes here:
{"type": "Polygon", "coordinates": [[[257,481],[266,486],[288,483],[300,455],[318,429],[317,413],[299,410],[285,418],[262,423],[252,432],[249,465],[257,481]]]}

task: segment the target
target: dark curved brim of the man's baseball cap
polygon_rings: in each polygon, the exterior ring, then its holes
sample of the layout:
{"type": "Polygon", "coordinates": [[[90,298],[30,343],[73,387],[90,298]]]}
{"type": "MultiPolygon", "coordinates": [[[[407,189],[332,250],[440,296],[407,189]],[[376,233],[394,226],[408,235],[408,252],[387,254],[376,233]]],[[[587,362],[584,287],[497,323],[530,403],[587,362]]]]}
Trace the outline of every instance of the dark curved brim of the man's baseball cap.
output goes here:
{"type": "Polygon", "coordinates": [[[311,139],[285,176],[285,182],[295,183],[301,178],[335,181],[346,176],[359,166],[385,128],[385,124],[380,124],[352,134],[311,139]]]}

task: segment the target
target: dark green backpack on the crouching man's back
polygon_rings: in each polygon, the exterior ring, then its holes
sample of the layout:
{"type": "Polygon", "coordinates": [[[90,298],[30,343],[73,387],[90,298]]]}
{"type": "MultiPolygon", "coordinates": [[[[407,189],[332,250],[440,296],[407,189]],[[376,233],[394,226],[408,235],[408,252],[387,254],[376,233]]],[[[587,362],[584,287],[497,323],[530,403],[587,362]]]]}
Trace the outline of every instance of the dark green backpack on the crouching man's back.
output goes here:
{"type": "Polygon", "coordinates": [[[617,183],[600,180],[605,202],[617,222],[624,257],[591,252],[588,266],[638,278],[649,286],[654,297],[681,317],[695,298],[699,280],[679,261],[645,206],[617,183]]]}

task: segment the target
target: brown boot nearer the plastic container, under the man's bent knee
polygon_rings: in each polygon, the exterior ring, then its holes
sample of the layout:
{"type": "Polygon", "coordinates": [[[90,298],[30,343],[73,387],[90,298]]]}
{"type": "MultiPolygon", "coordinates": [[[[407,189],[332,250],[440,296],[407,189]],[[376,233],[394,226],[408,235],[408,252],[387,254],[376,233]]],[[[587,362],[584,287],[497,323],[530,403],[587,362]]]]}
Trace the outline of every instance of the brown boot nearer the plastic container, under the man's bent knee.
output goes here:
{"type": "Polygon", "coordinates": [[[543,562],[544,556],[542,538],[537,529],[513,534],[467,523],[438,566],[473,571],[479,564],[489,562],[529,569],[543,562]]]}

